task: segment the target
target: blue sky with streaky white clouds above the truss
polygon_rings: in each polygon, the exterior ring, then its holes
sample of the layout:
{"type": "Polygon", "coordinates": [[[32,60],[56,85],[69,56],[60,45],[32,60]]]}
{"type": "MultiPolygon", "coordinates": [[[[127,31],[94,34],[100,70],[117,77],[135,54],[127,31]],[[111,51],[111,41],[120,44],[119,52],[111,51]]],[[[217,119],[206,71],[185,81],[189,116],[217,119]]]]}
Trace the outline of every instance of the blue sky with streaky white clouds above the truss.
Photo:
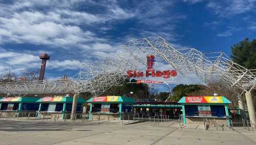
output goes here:
{"type": "Polygon", "coordinates": [[[154,36],[178,49],[230,55],[234,43],[255,38],[255,7],[255,0],[0,0],[0,73],[39,69],[38,55],[47,52],[46,79],[72,76],[84,61],[113,56],[130,39],[154,36]]]}

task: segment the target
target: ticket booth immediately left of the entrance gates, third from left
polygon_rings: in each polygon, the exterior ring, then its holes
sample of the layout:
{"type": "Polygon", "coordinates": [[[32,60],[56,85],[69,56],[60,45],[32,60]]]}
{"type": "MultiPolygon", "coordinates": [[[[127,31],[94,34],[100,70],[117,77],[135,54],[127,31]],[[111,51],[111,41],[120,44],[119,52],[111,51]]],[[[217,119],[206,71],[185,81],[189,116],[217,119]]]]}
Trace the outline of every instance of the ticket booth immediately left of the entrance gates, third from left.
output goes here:
{"type": "Polygon", "coordinates": [[[132,113],[135,100],[124,96],[101,96],[90,98],[89,120],[94,120],[93,115],[100,114],[101,119],[111,118],[121,120],[122,113],[132,113]]]}

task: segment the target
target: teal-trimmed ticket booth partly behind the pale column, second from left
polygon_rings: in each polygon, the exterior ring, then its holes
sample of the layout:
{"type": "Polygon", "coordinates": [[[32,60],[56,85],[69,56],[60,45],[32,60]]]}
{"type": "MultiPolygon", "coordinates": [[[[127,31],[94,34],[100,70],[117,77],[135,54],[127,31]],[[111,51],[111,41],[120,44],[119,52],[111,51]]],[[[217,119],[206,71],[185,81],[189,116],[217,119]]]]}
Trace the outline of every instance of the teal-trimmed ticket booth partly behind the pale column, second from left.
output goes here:
{"type": "MultiPolygon", "coordinates": [[[[73,97],[55,96],[44,97],[39,99],[40,103],[38,111],[40,113],[55,113],[59,114],[59,118],[64,119],[65,113],[71,113],[73,97]]],[[[76,113],[82,112],[82,106],[86,103],[83,98],[77,98],[76,113]]]]}

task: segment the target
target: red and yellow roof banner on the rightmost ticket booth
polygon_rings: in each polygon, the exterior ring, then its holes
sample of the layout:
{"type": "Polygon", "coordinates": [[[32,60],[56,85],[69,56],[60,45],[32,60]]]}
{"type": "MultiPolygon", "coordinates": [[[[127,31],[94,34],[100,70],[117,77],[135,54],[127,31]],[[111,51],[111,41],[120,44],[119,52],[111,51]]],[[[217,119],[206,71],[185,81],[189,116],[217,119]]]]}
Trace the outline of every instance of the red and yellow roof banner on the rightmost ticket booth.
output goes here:
{"type": "Polygon", "coordinates": [[[189,96],[185,103],[223,103],[221,96],[189,96]]]}

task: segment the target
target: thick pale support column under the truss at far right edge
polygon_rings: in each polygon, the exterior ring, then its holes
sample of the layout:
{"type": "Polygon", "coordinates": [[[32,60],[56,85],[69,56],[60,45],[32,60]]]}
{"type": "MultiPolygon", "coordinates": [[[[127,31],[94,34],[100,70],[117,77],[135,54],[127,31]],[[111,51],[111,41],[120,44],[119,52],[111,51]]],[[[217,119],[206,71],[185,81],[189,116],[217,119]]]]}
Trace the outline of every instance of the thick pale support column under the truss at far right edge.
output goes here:
{"type": "Polygon", "coordinates": [[[253,126],[256,127],[255,108],[254,108],[254,103],[253,103],[251,93],[245,93],[245,97],[246,97],[250,121],[254,124],[253,126]]]}

